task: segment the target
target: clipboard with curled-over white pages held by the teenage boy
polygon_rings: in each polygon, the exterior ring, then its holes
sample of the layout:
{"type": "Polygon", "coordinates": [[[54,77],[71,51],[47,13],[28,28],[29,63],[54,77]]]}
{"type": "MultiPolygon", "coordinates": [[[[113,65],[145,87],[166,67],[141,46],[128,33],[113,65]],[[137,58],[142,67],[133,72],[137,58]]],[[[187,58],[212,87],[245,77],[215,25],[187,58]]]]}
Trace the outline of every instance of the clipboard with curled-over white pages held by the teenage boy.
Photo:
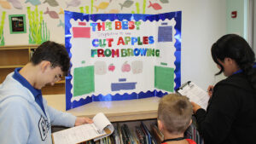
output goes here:
{"type": "Polygon", "coordinates": [[[54,144],[76,144],[84,141],[97,141],[113,133],[113,124],[99,112],[92,118],[92,124],[82,124],[52,134],[54,144]]]}

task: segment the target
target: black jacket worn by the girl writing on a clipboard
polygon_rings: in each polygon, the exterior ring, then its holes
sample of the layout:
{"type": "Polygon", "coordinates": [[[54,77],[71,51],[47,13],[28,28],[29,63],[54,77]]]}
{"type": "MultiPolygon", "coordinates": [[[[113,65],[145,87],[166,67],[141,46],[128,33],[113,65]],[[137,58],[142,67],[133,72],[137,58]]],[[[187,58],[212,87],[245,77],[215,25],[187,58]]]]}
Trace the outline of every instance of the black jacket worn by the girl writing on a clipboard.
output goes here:
{"type": "Polygon", "coordinates": [[[256,91],[242,72],[216,84],[195,117],[206,144],[256,143],[256,91]]]}

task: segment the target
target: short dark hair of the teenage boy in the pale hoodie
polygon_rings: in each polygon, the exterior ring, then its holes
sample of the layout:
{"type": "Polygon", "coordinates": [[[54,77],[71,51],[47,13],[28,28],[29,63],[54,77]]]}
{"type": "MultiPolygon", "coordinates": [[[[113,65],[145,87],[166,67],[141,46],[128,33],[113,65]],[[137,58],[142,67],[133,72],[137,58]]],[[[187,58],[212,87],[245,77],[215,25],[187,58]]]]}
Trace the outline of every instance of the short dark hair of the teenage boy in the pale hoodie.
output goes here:
{"type": "Polygon", "coordinates": [[[60,66],[61,71],[67,75],[70,58],[63,45],[51,41],[46,41],[39,45],[30,61],[33,65],[38,65],[43,60],[49,61],[53,68],[60,66]]]}

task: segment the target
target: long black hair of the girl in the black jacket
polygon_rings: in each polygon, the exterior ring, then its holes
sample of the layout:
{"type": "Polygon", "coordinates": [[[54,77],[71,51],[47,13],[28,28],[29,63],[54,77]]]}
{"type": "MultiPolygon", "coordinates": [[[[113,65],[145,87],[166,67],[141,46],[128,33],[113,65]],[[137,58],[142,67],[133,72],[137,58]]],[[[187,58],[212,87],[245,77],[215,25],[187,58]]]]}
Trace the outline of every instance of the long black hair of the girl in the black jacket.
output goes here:
{"type": "Polygon", "coordinates": [[[247,75],[253,89],[256,89],[256,71],[253,70],[255,54],[243,37],[236,34],[227,34],[212,44],[212,59],[221,67],[216,75],[224,72],[224,67],[218,62],[218,60],[224,61],[224,58],[235,60],[242,72],[247,75]]]}

